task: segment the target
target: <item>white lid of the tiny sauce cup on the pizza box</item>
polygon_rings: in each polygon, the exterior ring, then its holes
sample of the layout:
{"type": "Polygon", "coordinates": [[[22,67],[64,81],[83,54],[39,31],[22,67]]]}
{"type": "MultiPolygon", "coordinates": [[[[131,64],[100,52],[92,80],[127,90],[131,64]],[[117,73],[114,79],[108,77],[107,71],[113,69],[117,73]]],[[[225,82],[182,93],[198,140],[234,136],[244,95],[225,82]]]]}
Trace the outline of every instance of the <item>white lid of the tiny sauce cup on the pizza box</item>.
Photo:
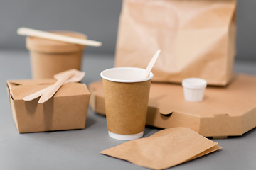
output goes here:
{"type": "Polygon", "coordinates": [[[182,86],[188,89],[203,89],[207,86],[207,81],[200,78],[183,79],[182,86]]]}

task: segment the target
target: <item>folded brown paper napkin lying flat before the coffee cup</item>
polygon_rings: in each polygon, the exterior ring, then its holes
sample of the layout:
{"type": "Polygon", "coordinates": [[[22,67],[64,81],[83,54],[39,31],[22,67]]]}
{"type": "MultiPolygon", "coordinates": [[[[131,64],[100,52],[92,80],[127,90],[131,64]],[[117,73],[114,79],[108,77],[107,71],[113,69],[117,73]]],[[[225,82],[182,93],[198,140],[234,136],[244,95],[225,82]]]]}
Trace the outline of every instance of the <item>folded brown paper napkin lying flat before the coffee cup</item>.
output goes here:
{"type": "Polygon", "coordinates": [[[160,130],[150,137],[125,142],[100,153],[149,169],[167,169],[221,147],[189,128],[160,130]]]}

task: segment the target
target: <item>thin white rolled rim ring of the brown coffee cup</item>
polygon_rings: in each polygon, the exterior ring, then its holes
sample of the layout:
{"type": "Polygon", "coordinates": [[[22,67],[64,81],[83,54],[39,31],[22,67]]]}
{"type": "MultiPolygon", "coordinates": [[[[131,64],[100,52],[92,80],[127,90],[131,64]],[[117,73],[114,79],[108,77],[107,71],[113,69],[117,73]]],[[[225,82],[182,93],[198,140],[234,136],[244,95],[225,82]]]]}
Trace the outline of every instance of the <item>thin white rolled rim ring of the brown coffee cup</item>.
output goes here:
{"type": "Polygon", "coordinates": [[[110,70],[113,70],[113,69],[137,69],[137,70],[145,70],[146,69],[142,69],[142,68],[137,68],[137,67],[114,67],[114,68],[111,68],[111,69],[105,69],[103,70],[101,73],[100,73],[100,76],[103,78],[103,79],[107,79],[109,81],[115,81],[115,82],[121,82],[121,83],[135,83],[135,82],[143,82],[143,81],[148,81],[150,79],[152,79],[154,77],[154,74],[152,72],[149,73],[149,77],[147,77],[146,79],[135,79],[135,80],[125,80],[125,79],[112,79],[112,78],[109,78],[109,77],[105,77],[103,74],[105,72],[109,72],[110,70]]]}

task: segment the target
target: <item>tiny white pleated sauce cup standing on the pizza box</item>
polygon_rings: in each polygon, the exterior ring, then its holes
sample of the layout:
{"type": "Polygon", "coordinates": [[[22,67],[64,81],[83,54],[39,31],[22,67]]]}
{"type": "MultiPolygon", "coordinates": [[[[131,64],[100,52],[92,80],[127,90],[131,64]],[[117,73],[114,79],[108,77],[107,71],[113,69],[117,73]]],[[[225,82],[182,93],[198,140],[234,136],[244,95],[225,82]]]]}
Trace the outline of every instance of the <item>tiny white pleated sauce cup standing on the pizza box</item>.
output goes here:
{"type": "Polygon", "coordinates": [[[184,97],[186,101],[203,101],[207,81],[199,78],[188,78],[182,81],[184,97]]]}

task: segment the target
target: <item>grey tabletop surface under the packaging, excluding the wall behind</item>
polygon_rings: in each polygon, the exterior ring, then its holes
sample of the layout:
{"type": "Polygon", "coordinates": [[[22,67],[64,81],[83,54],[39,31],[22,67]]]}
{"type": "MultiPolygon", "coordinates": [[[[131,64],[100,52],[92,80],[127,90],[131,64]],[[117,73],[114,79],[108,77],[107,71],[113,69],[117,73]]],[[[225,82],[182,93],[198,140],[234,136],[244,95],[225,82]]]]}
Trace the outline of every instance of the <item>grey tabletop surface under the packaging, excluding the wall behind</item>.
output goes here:
{"type": "MultiPolygon", "coordinates": [[[[113,55],[83,57],[82,80],[100,80],[103,69],[113,67],[113,55]]],[[[235,72],[256,74],[256,62],[235,62],[235,72]]],[[[86,128],[58,132],[19,134],[6,91],[7,79],[31,79],[27,51],[0,51],[0,169],[145,169],[100,151],[122,144],[107,135],[105,116],[88,109],[86,128]]],[[[255,87],[256,88],[256,87],[255,87]]],[[[146,127],[144,137],[159,131],[146,127]]],[[[256,129],[239,137],[213,140],[223,147],[217,152],[174,166],[171,169],[256,169],[256,129]]]]}

